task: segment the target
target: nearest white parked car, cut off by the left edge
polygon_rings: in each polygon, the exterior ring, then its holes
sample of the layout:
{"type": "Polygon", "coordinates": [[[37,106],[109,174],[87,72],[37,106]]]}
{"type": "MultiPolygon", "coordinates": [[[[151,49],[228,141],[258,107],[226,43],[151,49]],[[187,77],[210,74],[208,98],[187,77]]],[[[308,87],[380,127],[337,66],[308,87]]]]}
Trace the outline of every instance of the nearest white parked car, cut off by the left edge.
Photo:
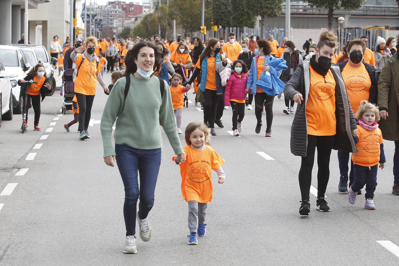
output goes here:
{"type": "Polygon", "coordinates": [[[10,78],[15,78],[16,74],[10,74],[5,70],[0,59],[0,127],[2,119],[12,120],[13,107],[10,78]]]}

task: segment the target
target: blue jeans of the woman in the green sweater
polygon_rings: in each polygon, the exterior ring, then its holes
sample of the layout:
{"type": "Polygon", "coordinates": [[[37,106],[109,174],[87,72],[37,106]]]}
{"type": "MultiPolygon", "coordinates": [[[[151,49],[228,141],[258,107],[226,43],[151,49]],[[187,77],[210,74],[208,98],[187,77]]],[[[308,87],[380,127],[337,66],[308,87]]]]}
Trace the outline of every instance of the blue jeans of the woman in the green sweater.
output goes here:
{"type": "Polygon", "coordinates": [[[124,144],[115,144],[115,153],[125,190],[123,216],[126,236],[133,236],[136,233],[138,197],[140,196],[138,204],[140,219],[145,219],[154,206],[155,185],[161,164],[161,148],[139,150],[124,144]],[[140,188],[138,173],[140,173],[140,188]]]}

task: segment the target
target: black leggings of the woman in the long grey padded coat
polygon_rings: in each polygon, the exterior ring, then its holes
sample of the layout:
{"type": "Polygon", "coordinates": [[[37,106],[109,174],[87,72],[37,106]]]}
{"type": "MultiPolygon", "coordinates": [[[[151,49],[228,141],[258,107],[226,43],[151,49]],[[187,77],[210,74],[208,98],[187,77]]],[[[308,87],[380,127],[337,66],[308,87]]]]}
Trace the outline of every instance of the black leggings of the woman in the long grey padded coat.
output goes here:
{"type": "MultiPolygon", "coordinates": [[[[256,98],[255,98],[256,100],[256,98]]],[[[299,170],[299,187],[302,201],[309,200],[310,184],[312,183],[312,169],[314,152],[317,147],[317,198],[323,198],[330,178],[330,155],[335,136],[308,135],[308,149],[302,157],[299,170]]]]}

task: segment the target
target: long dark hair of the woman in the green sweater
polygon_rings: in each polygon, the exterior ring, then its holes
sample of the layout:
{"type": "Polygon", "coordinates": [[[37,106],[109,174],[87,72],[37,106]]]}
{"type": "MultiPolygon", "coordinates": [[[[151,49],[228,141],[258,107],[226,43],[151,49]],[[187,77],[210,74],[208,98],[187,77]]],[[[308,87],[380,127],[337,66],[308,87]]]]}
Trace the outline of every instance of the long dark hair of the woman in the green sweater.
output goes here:
{"type": "Polygon", "coordinates": [[[161,50],[152,42],[150,41],[142,41],[137,43],[133,46],[131,50],[126,53],[125,64],[126,64],[126,71],[124,76],[136,73],[137,65],[134,63],[134,59],[137,60],[138,52],[142,47],[150,47],[154,49],[154,72],[158,72],[161,69],[162,61],[164,60],[164,55],[161,53],[161,50]]]}

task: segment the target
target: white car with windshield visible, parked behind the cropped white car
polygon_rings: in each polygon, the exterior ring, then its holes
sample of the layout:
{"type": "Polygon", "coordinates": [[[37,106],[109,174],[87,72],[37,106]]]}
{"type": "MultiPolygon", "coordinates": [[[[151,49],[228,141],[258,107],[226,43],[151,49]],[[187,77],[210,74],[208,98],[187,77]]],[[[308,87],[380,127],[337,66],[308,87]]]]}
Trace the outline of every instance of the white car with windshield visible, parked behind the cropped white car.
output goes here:
{"type": "Polygon", "coordinates": [[[21,48],[14,45],[0,45],[0,59],[3,61],[5,70],[16,77],[10,79],[12,86],[12,100],[14,112],[22,114],[22,97],[20,98],[21,87],[17,84],[19,79],[24,79],[30,69],[30,64],[21,48]]]}

